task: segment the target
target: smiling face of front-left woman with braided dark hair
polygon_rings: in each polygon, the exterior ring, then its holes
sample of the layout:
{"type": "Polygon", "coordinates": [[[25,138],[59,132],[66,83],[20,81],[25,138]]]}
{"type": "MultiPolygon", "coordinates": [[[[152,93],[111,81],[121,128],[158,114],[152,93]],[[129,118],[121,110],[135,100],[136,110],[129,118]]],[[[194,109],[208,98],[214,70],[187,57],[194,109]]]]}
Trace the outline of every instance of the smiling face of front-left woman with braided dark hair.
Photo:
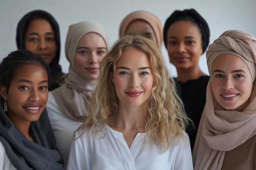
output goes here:
{"type": "Polygon", "coordinates": [[[28,64],[18,68],[14,74],[8,94],[1,86],[1,94],[8,105],[8,117],[15,126],[37,121],[48,100],[47,71],[42,66],[28,64]]]}

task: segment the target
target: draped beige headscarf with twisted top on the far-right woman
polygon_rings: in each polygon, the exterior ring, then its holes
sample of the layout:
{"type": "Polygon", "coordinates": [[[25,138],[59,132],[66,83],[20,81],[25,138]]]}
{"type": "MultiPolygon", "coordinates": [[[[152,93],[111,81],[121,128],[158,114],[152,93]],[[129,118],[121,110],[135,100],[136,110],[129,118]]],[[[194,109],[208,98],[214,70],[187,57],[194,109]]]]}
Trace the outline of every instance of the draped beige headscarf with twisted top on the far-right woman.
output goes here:
{"type": "MultiPolygon", "coordinates": [[[[227,53],[237,55],[245,61],[255,87],[256,38],[238,30],[222,33],[209,45],[206,52],[210,75],[213,61],[227,53]]],[[[253,88],[249,105],[242,112],[225,110],[218,104],[212,92],[211,79],[206,97],[193,150],[194,169],[221,170],[225,152],[233,150],[256,135],[256,88],[253,88]]]]}

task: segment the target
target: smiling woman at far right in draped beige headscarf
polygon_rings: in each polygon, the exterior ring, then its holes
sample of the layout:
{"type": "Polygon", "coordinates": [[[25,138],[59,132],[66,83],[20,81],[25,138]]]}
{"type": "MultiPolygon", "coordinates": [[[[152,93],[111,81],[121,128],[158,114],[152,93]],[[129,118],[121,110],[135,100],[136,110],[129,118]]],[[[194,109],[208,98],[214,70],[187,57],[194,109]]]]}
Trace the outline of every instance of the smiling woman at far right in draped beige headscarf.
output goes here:
{"type": "Polygon", "coordinates": [[[195,170],[256,169],[256,38],[225,31],[206,53],[211,75],[193,150],[195,170]]]}

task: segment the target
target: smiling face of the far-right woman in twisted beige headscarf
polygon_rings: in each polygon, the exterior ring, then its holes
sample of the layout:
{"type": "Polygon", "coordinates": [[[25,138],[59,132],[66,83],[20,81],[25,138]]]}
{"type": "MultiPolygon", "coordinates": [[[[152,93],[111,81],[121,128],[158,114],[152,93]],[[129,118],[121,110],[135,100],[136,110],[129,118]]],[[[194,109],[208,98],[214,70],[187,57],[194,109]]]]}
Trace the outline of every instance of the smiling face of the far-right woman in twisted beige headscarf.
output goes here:
{"type": "Polygon", "coordinates": [[[252,93],[252,76],[240,57],[223,54],[212,65],[211,86],[218,103],[227,110],[243,111],[252,93]]]}

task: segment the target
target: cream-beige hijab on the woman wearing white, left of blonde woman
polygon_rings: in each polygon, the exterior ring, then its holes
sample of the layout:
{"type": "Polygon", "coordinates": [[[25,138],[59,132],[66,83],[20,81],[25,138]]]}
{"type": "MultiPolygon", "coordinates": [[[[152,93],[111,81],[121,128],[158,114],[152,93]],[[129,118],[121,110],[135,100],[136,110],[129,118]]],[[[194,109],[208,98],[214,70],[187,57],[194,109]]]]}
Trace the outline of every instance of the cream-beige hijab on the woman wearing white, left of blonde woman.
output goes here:
{"type": "Polygon", "coordinates": [[[65,83],[52,91],[59,110],[74,121],[84,121],[88,115],[89,99],[96,87],[97,80],[85,79],[75,71],[74,56],[79,40],[86,33],[98,33],[108,47],[107,33],[103,26],[97,22],[79,22],[69,26],[67,32],[65,54],[70,62],[69,74],[65,83]]]}

